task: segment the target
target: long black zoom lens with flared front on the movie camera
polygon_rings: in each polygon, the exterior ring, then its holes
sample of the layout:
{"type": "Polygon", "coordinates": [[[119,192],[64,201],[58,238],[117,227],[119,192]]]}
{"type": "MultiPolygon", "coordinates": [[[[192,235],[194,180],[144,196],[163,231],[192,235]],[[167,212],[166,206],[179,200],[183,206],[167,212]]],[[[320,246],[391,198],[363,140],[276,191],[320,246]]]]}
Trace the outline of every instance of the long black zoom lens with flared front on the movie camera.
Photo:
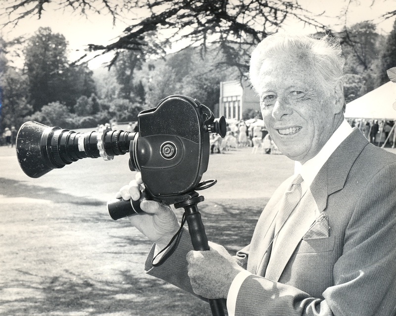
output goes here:
{"type": "Polygon", "coordinates": [[[23,172],[31,178],[39,178],[82,158],[111,160],[123,155],[129,151],[129,143],[136,134],[110,128],[77,133],[29,121],[18,131],[16,152],[23,172]]]}

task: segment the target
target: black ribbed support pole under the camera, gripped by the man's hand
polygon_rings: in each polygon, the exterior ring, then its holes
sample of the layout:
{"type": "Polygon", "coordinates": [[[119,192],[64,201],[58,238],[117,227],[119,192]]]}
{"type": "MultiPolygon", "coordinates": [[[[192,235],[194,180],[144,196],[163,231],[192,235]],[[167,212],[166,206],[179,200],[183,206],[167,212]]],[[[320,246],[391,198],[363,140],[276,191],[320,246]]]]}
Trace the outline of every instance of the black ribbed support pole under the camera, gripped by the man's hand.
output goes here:
{"type": "MultiPolygon", "coordinates": [[[[191,242],[194,250],[209,250],[205,227],[202,224],[201,215],[197,204],[203,201],[203,196],[193,197],[187,201],[175,204],[176,208],[183,207],[185,210],[186,221],[189,226],[191,242]]],[[[209,306],[213,316],[224,316],[223,302],[221,299],[209,300],[209,306]]]]}

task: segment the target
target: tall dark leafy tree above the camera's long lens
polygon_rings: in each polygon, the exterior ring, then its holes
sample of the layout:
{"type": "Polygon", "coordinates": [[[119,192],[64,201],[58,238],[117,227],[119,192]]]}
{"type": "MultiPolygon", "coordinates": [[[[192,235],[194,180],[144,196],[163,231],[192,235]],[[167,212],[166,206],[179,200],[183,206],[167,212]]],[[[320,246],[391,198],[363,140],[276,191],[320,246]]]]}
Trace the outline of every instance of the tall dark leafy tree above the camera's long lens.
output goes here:
{"type": "Polygon", "coordinates": [[[35,111],[59,101],[72,107],[81,95],[96,91],[92,71],[86,65],[70,66],[63,35],[39,28],[25,49],[24,71],[28,79],[28,102],[35,111]]]}

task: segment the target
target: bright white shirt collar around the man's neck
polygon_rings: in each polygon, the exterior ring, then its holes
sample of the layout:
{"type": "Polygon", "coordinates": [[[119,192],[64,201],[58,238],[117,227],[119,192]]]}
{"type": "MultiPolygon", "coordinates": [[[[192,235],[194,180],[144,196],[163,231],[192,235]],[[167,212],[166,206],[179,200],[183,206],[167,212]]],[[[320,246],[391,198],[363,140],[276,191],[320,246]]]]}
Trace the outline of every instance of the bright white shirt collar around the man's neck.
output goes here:
{"type": "Polygon", "coordinates": [[[350,133],[352,133],[352,130],[353,129],[350,127],[347,120],[344,119],[343,123],[341,123],[338,129],[333,133],[333,135],[329,138],[329,140],[325,143],[325,145],[315,157],[312,157],[303,165],[296,161],[295,174],[300,174],[302,179],[304,179],[304,181],[301,183],[303,192],[308,189],[319,170],[329,159],[331,154],[336,150],[336,148],[347,138],[350,133]]]}

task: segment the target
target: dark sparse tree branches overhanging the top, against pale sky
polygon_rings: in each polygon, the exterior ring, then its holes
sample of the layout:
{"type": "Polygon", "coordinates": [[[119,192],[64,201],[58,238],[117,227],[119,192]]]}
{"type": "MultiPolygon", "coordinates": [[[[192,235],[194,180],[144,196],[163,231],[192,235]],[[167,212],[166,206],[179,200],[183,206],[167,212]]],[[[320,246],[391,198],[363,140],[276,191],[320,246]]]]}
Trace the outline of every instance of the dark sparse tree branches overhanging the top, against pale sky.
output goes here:
{"type": "MultiPolygon", "coordinates": [[[[49,1],[4,0],[3,15],[7,23],[18,23],[27,16],[45,14],[49,1]]],[[[115,52],[134,50],[141,56],[164,55],[173,45],[199,46],[205,50],[216,44],[227,56],[227,63],[246,70],[247,56],[252,45],[277,32],[292,18],[318,29],[325,29],[297,0],[64,0],[58,8],[71,8],[86,15],[88,12],[110,13],[114,23],[124,14],[140,12],[123,34],[109,45],[89,44],[90,50],[115,52]],[[187,44],[186,44],[187,43],[187,44]],[[238,52],[238,53],[237,53],[238,52]]]]}

